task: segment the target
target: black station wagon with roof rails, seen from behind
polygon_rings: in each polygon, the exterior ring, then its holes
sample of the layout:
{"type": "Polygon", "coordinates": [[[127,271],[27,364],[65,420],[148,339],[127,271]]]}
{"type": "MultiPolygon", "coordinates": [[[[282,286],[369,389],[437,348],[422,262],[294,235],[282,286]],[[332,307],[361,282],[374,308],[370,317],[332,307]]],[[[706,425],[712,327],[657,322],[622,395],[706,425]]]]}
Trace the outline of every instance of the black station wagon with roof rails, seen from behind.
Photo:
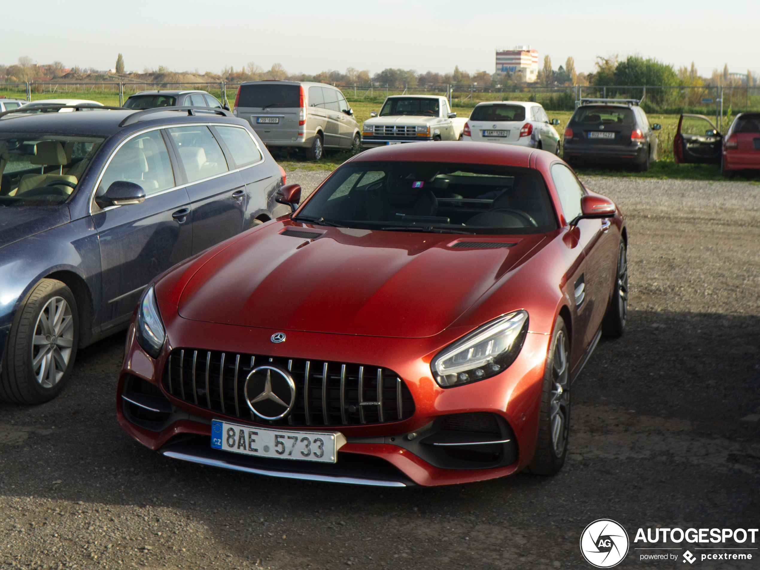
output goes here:
{"type": "Polygon", "coordinates": [[[635,99],[581,99],[565,127],[562,154],[570,164],[630,165],[639,172],[657,160],[657,134],[635,99]]]}

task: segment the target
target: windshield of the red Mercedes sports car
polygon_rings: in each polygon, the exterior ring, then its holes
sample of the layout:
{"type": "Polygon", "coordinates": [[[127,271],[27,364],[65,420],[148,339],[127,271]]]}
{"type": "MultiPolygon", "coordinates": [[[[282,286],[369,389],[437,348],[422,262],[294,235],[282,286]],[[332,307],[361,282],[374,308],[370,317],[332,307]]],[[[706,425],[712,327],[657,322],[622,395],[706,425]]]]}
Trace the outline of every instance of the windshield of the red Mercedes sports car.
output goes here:
{"type": "Polygon", "coordinates": [[[534,169],[451,163],[350,163],[295,218],[369,230],[543,233],[554,211],[534,169]]]}

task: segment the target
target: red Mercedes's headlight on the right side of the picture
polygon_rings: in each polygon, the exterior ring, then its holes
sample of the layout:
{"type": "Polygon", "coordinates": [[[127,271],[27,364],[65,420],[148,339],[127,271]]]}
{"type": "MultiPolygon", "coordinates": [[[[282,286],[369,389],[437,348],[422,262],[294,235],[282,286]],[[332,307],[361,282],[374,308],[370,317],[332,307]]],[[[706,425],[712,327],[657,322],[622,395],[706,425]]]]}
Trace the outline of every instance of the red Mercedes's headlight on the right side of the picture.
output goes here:
{"type": "Polygon", "coordinates": [[[435,382],[451,388],[503,372],[522,349],[527,322],[526,311],[511,312],[450,344],[430,363],[435,382]]]}

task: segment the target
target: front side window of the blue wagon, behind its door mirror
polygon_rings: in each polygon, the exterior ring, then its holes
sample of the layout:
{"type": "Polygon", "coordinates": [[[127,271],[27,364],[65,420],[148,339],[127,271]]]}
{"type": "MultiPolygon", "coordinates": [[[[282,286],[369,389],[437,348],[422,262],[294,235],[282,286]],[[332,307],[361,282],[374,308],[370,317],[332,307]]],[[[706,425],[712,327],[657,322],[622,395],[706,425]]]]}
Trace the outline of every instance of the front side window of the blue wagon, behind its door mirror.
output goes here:
{"type": "MultiPolygon", "coordinates": [[[[80,154],[85,150],[77,149],[74,144],[72,154],[80,154]]],[[[103,195],[117,180],[141,185],[147,196],[175,185],[172,163],[159,131],[137,135],[116,151],[100,180],[98,195],[103,195]]]]}

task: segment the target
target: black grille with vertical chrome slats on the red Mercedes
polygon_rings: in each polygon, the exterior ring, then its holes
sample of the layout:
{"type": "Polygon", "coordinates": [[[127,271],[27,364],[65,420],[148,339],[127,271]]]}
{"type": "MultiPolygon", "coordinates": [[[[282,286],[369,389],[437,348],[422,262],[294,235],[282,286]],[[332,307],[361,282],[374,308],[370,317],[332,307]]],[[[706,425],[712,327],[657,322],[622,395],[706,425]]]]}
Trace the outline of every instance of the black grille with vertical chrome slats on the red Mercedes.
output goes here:
{"type": "Polygon", "coordinates": [[[207,410],[273,426],[356,426],[414,413],[409,388],[392,370],[283,356],[177,348],[166,363],[163,388],[207,410]],[[296,404],[282,420],[262,420],[245,400],[245,379],[264,364],[289,370],[296,383],[296,404]]]}

